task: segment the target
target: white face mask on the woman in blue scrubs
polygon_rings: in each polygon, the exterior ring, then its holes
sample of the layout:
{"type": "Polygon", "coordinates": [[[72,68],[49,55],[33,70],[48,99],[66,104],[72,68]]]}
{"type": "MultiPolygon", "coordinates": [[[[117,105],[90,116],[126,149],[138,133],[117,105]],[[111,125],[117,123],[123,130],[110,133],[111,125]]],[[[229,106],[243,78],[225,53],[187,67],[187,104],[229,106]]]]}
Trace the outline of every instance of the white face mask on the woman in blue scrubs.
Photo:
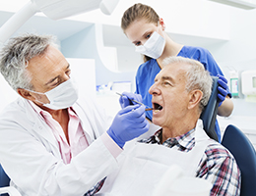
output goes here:
{"type": "Polygon", "coordinates": [[[159,59],[165,46],[165,39],[155,31],[144,45],[135,46],[135,51],[153,59],[159,59]]]}

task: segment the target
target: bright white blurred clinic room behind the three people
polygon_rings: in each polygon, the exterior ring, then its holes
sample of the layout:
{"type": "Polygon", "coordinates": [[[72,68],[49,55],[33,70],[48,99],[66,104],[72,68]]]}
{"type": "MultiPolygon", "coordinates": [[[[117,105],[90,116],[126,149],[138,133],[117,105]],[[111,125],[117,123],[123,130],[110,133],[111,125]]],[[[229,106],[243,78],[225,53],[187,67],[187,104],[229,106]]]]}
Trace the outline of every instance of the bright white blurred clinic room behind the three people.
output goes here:
{"type": "MultiPolygon", "coordinates": [[[[29,0],[0,2],[0,26],[29,0]]],[[[35,14],[13,36],[25,32],[54,34],[76,74],[80,93],[95,96],[105,111],[119,110],[115,92],[135,90],[142,56],[120,27],[124,11],[135,3],[152,6],[176,42],[207,48],[228,79],[234,110],[218,117],[221,129],[234,124],[256,146],[256,0],[120,0],[110,16],[100,10],[53,21],[35,14]]],[[[18,97],[0,75],[0,111],[18,97]]]]}

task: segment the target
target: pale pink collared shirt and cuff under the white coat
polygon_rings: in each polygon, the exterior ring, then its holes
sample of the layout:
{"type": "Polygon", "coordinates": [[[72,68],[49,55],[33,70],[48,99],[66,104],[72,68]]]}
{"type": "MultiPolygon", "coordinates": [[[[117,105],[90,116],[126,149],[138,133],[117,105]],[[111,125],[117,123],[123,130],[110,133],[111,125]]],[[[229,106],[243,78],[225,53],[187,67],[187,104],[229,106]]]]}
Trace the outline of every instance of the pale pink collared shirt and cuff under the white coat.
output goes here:
{"type": "MultiPolygon", "coordinates": [[[[48,112],[36,106],[32,101],[29,102],[32,105],[33,110],[41,115],[45,123],[51,127],[52,132],[58,142],[61,158],[64,164],[69,164],[72,157],[75,157],[89,146],[81,121],[72,107],[68,108],[68,143],[61,125],[55,121],[48,112]]],[[[108,136],[107,133],[103,133],[100,138],[114,158],[116,158],[122,152],[122,149],[119,148],[119,146],[108,136]]]]}

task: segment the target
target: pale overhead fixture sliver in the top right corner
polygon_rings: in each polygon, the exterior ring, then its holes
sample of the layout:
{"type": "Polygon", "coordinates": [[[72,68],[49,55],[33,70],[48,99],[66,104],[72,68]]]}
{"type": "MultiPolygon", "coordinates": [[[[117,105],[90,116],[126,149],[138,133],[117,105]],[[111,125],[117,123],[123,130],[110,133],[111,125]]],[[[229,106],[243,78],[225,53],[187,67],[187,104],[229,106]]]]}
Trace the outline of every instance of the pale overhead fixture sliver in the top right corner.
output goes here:
{"type": "Polygon", "coordinates": [[[218,3],[222,3],[228,6],[241,8],[245,10],[251,10],[256,8],[255,0],[210,0],[218,3]]]}

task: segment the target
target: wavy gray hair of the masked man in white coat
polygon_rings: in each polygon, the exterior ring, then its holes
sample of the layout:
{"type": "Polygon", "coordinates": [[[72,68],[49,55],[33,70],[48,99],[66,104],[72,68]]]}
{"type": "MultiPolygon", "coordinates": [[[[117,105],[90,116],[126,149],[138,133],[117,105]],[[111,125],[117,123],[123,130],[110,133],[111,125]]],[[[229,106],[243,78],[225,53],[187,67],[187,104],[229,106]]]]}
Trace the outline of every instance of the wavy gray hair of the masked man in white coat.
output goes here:
{"type": "Polygon", "coordinates": [[[58,48],[56,38],[51,35],[24,34],[11,38],[0,52],[0,72],[10,86],[32,90],[32,75],[27,72],[29,61],[43,55],[47,47],[58,48]]]}

